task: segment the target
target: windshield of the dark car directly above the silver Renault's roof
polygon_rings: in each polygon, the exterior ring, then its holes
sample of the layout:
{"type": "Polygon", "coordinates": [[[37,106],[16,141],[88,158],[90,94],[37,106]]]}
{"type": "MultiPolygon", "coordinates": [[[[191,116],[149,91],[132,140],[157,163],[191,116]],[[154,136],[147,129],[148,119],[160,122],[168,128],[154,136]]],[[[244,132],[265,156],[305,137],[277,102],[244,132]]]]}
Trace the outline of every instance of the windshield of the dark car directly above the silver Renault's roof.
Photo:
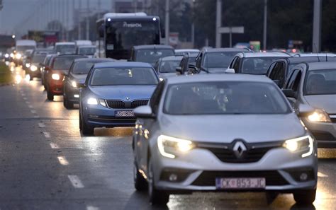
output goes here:
{"type": "Polygon", "coordinates": [[[231,60],[237,52],[208,52],[204,56],[203,66],[211,71],[211,68],[228,68],[231,60]]]}

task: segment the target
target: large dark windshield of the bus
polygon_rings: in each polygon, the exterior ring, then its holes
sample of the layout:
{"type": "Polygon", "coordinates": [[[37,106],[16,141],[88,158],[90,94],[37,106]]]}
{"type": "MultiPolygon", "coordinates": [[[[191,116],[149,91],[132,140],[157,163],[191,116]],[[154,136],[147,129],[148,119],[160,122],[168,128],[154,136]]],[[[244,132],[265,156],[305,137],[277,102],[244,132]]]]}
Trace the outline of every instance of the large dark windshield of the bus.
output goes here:
{"type": "Polygon", "coordinates": [[[106,50],[159,44],[158,21],[112,21],[106,25],[106,50]]]}

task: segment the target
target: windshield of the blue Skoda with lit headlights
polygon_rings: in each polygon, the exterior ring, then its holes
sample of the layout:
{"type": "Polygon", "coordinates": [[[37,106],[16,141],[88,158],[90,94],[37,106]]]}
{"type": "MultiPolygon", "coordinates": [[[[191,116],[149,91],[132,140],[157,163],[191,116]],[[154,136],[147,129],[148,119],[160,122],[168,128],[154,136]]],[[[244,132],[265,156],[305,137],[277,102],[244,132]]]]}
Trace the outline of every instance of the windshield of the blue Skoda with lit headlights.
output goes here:
{"type": "Polygon", "coordinates": [[[147,67],[114,67],[94,69],[91,86],[156,86],[154,69],[147,67]]]}

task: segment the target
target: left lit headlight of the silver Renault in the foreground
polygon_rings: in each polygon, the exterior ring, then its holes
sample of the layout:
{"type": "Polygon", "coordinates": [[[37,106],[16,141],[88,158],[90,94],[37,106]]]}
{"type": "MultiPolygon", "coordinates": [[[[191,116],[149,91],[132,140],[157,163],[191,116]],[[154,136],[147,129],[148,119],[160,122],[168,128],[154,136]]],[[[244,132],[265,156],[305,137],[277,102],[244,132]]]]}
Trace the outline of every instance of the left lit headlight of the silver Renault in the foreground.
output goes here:
{"type": "Polygon", "coordinates": [[[167,158],[175,158],[177,154],[186,153],[195,147],[192,141],[164,135],[157,138],[157,146],[161,155],[167,158]]]}

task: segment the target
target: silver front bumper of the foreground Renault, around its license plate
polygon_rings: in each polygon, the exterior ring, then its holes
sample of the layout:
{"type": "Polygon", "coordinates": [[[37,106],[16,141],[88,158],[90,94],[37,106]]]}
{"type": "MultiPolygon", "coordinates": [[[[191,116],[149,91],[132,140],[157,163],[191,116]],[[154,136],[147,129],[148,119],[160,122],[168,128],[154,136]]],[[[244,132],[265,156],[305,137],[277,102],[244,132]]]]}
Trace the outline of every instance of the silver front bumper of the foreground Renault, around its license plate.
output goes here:
{"type": "Polygon", "coordinates": [[[313,155],[301,158],[286,148],[274,148],[255,163],[224,163],[211,151],[193,149],[184,156],[164,158],[159,151],[152,152],[157,189],[184,193],[194,191],[224,191],[215,186],[216,178],[265,177],[265,189],[229,189],[225,191],[278,191],[294,192],[300,189],[315,189],[317,185],[318,158],[313,155]],[[177,182],[167,179],[169,171],[181,177],[177,182]],[[300,181],[302,173],[308,174],[300,181]]]}

